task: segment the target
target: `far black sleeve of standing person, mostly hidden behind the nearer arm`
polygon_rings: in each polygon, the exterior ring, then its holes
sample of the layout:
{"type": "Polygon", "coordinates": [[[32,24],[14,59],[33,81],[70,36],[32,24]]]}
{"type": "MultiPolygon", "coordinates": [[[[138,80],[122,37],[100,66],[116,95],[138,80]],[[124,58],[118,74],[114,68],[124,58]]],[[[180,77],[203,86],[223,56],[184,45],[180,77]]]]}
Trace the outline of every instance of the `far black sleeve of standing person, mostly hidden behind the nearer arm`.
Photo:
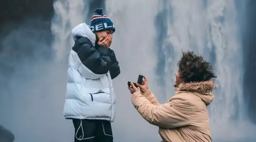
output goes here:
{"type": "Polygon", "coordinates": [[[110,72],[111,79],[114,79],[120,74],[120,67],[119,67],[119,63],[117,61],[117,57],[116,57],[114,51],[111,49],[109,49],[109,51],[110,51],[109,57],[111,59],[111,65],[109,66],[109,72],[110,72]]]}

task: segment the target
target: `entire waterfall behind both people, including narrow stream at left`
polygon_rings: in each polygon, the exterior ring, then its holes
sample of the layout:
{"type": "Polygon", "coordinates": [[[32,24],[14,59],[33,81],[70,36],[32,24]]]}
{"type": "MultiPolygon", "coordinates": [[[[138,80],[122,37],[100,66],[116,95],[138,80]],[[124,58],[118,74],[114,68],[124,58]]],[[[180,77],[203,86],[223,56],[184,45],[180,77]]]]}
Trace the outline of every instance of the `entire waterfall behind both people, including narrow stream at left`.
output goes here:
{"type": "MultiPolygon", "coordinates": [[[[52,31],[56,61],[70,52],[70,31],[85,21],[87,3],[89,0],[55,1],[52,31]]],[[[243,114],[242,46],[234,0],[106,0],[106,10],[117,29],[111,48],[121,68],[120,76],[113,80],[117,96],[115,142],[160,141],[158,128],[133,108],[126,84],[144,74],[150,89],[164,103],[174,94],[176,63],[181,51],[187,49],[211,61],[218,76],[215,99],[209,106],[213,138],[233,141],[251,136],[243,114]]]]}

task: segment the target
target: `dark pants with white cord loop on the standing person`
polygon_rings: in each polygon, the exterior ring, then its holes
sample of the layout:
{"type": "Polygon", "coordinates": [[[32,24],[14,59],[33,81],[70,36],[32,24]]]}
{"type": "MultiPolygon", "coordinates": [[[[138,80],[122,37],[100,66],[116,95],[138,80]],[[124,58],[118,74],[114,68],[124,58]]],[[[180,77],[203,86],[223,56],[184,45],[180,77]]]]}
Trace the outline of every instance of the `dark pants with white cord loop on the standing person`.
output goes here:
{"type": "Polygon", "coordinates": [[[75,142],[113,142],[111,123],[106,120],[73,119],[75,142]]]}

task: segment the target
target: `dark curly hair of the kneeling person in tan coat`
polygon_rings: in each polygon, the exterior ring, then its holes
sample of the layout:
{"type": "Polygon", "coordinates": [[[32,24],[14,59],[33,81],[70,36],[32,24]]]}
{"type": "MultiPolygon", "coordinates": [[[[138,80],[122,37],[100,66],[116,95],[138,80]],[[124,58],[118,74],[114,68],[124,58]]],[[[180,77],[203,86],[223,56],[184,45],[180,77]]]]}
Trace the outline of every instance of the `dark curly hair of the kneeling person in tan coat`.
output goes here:
{"type": "Polygon", "coordinates": [[[192,51],[182,52],[177,65],[184,82],[201,82],[217,78],[211,63],[204,61],[202,56],[197,56],[192,51]]]}

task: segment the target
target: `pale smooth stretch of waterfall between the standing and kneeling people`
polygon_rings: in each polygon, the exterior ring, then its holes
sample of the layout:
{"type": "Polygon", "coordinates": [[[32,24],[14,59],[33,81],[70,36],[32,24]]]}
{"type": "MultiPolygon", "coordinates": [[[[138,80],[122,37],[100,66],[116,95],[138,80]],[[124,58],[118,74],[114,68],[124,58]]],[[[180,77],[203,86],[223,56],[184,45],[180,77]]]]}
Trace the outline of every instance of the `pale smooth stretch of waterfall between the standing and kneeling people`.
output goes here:
{"type": "MultiPolygon", "coordinates": [[[[160,92],[155,79],[154,17],[156,0],[106,0],[107,16],[114,22],[111,48],[120,64],[121,74],[113,80],[117,97],[113,123],[115,142],[159,142],[158,128],[148,124],[131,104],[127,81],[137,81],[139,74],[149,80],[150,89],[160,92]],[[145,4],[146,3],[146,4],[145,4]]],[[[162,98],[161,94],[156,94],[162,98]]],[[[166,100],[165,100],[166,101],[166,100]]]]}

